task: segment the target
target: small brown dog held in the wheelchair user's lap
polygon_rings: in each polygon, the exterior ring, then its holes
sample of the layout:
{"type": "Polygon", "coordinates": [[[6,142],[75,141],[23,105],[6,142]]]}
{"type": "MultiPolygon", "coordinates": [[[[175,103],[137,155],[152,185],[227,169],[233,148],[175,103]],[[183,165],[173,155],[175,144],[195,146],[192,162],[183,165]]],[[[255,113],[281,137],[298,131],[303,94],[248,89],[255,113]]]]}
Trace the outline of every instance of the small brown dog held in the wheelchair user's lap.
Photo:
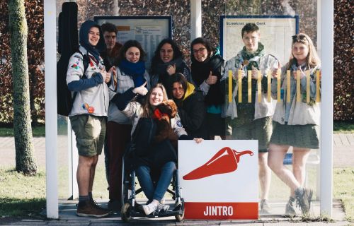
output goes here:
{"type": "Polygon", "coordinates": [[[169,139],[173,148],[177,150],[178,137],[171,128],[170,120],[176,117],[177,105],[173,100],[165,100],[156,106],[153,119],[156,121],[156,136],[154,143],[169,139]]]}

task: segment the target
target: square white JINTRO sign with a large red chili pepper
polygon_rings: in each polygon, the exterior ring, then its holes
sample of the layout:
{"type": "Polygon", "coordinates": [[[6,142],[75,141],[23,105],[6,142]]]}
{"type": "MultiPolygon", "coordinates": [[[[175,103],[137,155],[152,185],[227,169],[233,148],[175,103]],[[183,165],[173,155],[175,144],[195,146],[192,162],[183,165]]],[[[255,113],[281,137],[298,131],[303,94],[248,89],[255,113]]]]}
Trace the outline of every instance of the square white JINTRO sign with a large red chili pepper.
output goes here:
{"type": "Polygon", "coordinates": [[[258,141],[178,141],[186,219],[258,219],[258,141]]]}

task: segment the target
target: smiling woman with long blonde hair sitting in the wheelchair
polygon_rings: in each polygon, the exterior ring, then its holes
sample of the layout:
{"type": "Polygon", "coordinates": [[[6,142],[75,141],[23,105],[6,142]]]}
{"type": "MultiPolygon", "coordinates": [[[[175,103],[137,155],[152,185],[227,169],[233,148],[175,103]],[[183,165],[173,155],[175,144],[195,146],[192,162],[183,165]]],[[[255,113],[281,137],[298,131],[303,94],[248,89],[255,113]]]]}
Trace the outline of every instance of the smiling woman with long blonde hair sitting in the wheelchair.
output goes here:
{"type": "MultiPolygon", "coordinates": [[[[168,98],[166,89],[161,83],[154,85],[149,92],[147,92],[147,88],[144,85],[146,83],[140,87],[131,89],[130,95],[122,95],[120,101],[118,101],[118,109],[132,120],[132,136],[139,136],[139,138],[142,138],[140,140],[147,141],[144,138],[147,137],[144,130],[148,130],[148,126],[141,126],[140,123],[144,118],[154,118],[156,116],[154,112],[156,107],[163,101],[168,100],[168,98]],[[143,104],[135,101],[137,95],[146,95],[143,104]],[[137,129],[139,125],[139,129],[137,129]],[[136,134],[135,130],[140,133],[136,134]]],[[[191,139],[185,132],[178,114],[176,114],[176,117],[169,119],[169,121],[171,129],[178,139],[191,139]]],[[[202,141],[201,138],[195,138],[194,140],[197,143],[202,141]]],[[[166,211],[169,209],[169,206],[163,205],[161,199],[164,197],[173,177],[173,172],[176,169],[176,150],[171,145],[169,139],[165,139],[159,143],[142,143],[142,141],[137,141],[136,144],[142,146],[142,148],[136,147],[138,154],[135,157],[133,168],[144,194],[149,199],[149,204],[142,206],[144,213],[149,215],[154,212],[166,211]],[[156,185],[153,183],[152,174],[159,175],[156,185]]]]}

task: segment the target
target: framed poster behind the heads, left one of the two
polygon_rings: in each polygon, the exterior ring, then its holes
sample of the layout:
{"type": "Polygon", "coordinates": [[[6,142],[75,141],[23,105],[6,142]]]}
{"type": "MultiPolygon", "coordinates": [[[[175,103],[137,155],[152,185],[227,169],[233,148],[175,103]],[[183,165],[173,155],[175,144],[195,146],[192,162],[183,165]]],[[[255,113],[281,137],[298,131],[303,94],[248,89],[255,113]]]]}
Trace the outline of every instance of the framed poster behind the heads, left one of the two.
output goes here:
{"type": "Polygon", "coordinates": [[[147,54],[147,69],[157,45],[166,37],[172,37],[171,16],[95,16],[99,25],[113,23],[117,26],[117,41],[124,44],[127,40],[137,40],[147,54]]]}

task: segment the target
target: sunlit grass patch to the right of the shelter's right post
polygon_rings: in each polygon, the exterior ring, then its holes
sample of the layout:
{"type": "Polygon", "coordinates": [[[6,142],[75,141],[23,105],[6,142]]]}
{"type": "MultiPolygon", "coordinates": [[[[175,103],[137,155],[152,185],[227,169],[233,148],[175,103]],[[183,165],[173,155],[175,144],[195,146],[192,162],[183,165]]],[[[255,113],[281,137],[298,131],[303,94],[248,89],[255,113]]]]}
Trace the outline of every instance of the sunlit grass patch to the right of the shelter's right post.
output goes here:
{"type": "Polygon", "coordinates": [[[333,196],[343,202],[346,220],[354,222],[354,167],[333,170],[333,196]]]}

